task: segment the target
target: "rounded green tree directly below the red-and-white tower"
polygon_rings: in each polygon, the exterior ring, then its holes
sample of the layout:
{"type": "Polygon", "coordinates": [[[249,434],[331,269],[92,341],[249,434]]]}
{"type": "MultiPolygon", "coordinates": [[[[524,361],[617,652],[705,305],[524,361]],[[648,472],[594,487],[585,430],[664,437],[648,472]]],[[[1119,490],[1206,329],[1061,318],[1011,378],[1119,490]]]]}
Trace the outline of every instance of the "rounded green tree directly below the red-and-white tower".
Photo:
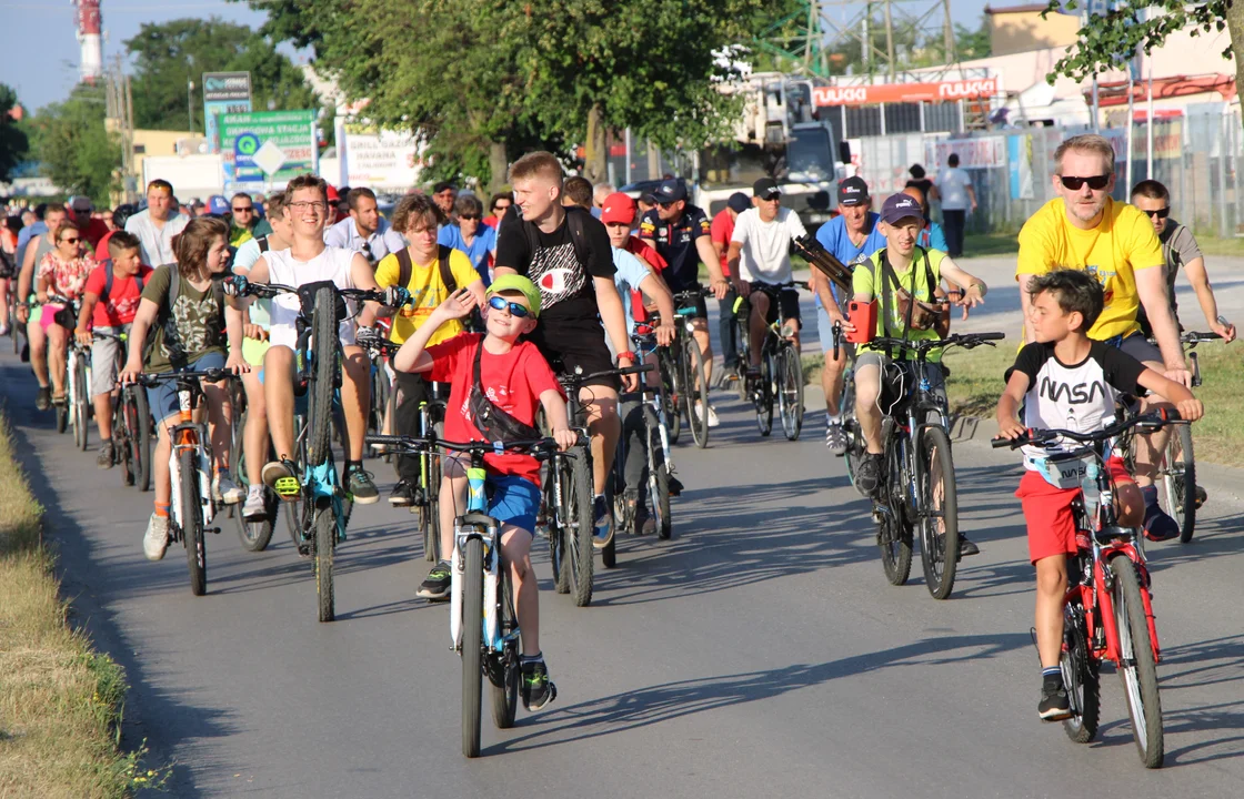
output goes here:
{"type": "Polygon", "coordinates": [[[58,188],[107,205],[118,186],[121,139],[104,128],[103,89],[80,83],[32,119],[35,155],[58,188]]]}

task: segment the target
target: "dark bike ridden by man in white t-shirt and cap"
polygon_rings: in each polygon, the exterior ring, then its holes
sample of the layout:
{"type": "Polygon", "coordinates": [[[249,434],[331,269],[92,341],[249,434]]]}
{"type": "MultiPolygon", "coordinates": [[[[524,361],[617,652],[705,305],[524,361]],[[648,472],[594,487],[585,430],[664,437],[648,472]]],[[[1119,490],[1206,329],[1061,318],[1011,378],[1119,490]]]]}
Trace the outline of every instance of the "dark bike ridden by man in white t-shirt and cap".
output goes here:
{"type": "MultiPolygon", "coordinates": [[[[771,307],[778,308],[778,321],[765,329],[765,340],[760,345],[760,370],[754,374],[748,368],[745,379],[745,393],[751,398],[756,409],[756,426],[761,436],[768,436],[773,430],[774,405],[778,405],[778,416],[781,419],[782,432],[787,441],[799,439],[804,427],[804,364],[800,362],[799,348],[792,340],[796,336],[790,319],[782,313],[779,298],[784,291],[790,291],[805,286],[787,281],[785,283],[751,283],[753,292],[764,292],[769,297],[771,307]]],[[[751,304],[746,297],[739,297],[734,303],[735,317],[749,319],[751,304]]],[[[740,353],[743,355],[743,353],[740,353]]],[[[748,350],[746,360],[751,363],[751,352],[748,350]]]]}

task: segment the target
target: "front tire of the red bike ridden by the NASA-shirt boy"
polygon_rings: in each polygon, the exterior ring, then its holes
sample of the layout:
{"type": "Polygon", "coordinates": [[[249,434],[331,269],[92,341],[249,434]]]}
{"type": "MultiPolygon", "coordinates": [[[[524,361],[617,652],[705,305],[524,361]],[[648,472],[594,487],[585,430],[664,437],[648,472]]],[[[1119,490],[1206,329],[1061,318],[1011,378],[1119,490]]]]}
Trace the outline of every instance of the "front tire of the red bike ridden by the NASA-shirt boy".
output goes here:
{"type": "Polygon", "coordinates": [[[1122,553],[1110,559],[1110,570],[1115,575],[1111,599],[1118,631],[1118,676],[1123,682],[1127,711],[1132,719],[1132,738],[1144,768],[1161,768],[1166,754],[1162,697],[1158,693],[1148,619],[1141,599],[1141,580],[1136,574],[1136,564],[1122,553]],[[1131,665],[1127,665],[1128,661],[1131,665]]]}

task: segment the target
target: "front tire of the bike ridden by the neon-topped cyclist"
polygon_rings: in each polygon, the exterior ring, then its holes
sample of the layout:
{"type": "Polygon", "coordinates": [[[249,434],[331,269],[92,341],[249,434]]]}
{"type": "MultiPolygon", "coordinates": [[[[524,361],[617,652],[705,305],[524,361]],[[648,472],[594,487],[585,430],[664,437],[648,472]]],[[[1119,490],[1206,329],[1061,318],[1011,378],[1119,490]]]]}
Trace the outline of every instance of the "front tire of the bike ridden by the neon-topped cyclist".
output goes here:
{"type": "Polygon", "coordinates": [[[959,565],[959,495],[954,480],[954,459],[950,439],[942,427],[926,427],[921,437],[921,493],[924,508],[921,513],[921,563],[924,565],[924,585],[933,599],[945,599],[954,589],[954,574],[959,565]],[[937,485],[933,467],[942,475],[942,502],[935,507],[937,485]],[[943,531],[937,529],[939,513],[943,531]]]}

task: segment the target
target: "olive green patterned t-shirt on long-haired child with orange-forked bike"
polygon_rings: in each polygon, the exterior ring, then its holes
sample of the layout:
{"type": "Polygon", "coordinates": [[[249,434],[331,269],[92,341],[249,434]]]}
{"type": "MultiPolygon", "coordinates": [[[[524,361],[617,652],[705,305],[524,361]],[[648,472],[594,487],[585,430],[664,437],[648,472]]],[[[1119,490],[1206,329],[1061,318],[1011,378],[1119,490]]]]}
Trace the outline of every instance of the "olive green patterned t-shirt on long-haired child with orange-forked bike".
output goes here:
{"type": "Polygon", "coordinates": [[[199,291],[182,277],[174,307],[168,308],[168,287],[175,268],[175,263],[157,268],[143,287],[143,299],[159,306],[149,333],[147,372],[173,372],[174,363],[189,367],[208,353],[225,354],[225,308],[211,286],[199,291]]]}

